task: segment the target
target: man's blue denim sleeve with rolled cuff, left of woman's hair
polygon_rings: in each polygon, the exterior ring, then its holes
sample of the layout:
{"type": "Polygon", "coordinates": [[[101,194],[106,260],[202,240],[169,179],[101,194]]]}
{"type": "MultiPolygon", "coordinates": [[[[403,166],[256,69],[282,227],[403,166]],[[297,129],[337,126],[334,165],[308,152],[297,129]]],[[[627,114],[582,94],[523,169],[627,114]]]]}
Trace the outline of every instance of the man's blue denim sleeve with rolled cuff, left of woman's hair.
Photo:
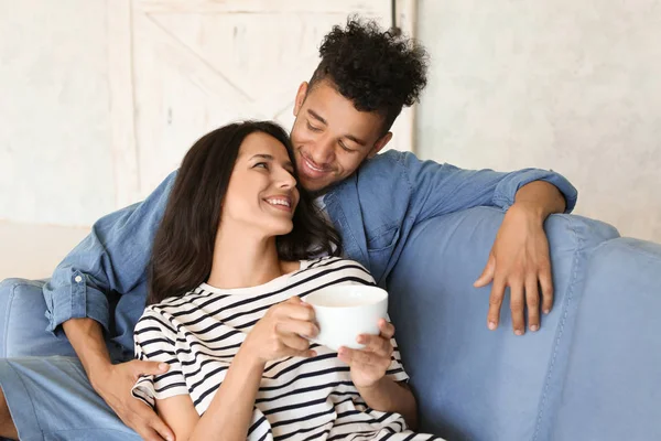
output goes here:
{"type": "Polygon", "coordinates": [[[43,293],[47,331],[62,332],[69,319],[89,318],[109,330],[107,294],[123,294],[144,282],[153,238],[176,172],[147,200],[97,220],[91,233],[57,266],[43,293]]]}

